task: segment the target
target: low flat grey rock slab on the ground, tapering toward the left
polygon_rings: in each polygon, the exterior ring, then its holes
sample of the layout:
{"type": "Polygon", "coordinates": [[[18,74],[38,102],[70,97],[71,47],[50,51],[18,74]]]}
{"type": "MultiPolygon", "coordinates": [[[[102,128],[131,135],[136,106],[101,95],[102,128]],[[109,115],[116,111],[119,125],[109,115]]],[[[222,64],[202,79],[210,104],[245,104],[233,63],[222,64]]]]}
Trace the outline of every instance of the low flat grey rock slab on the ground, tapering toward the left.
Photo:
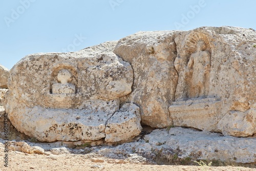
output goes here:
{"type": "Polygon", "coordinates": [[[91,154],[123,160],[137,157],[147,162],[162,161],[165,164],[175,163],[180,159],[254,163],[255,141],[255,137],[238,138],[174,127],[169,131],[154,130],[139,142],[124,143],[116,147],[98,147],[91,154]]]}

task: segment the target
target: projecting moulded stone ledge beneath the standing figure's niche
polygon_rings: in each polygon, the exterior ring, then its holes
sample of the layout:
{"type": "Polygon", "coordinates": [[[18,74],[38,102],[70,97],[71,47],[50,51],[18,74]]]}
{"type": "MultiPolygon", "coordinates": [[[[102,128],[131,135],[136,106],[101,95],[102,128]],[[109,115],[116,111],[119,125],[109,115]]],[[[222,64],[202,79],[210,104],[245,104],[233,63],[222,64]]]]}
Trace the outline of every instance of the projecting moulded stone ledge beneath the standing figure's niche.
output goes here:
{"type": "Polygon", "coordinates": [[[174,101],[169,106],[174,125],[195,127],[200,130],[214,131],[218,123],[220,99],[203,98],[174,101]]]}

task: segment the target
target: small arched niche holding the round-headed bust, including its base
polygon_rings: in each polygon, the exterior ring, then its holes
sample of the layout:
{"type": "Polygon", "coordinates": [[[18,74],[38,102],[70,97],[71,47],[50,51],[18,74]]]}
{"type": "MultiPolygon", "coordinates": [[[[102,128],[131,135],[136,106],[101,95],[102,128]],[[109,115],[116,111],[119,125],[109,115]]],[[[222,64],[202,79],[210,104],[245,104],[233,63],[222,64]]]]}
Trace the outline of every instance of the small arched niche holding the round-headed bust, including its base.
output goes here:
{"type": "Polygon", "coordinates": [[[69,62],[53,65],[43,104],[52,109],[76,109],[81,104],[78,69],[69,62]]]}

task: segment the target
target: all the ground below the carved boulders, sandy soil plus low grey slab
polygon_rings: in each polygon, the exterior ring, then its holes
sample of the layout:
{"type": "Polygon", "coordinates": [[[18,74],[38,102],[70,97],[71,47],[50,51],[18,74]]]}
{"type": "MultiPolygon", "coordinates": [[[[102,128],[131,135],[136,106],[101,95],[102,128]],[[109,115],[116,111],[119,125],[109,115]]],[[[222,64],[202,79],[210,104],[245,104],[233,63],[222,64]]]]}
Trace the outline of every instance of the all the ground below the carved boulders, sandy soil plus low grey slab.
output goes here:
{"type": "Polygon", "coordinates": [[[4,166],[2,158],[0,171],[256,170],[255,162],[248,163],[255,160],[255,148],[252,144],[255,142],[254,137],[243,139],[182,127],[157,130],[144,127],[140,136],[132,142],[100,146],[94,146],[100,141],[75,144],[61,141],[41,143],[28,139],[19,142],[9,141],[8,148],[12,150],[5,153],[5,141],[0,139],[0,142],[1,156],[8,154],[8,167],[4,166]],[[189,151],[189,145],[193,144],[193,149],[197,150],[197,153],[189,151]],[[244,147],[248,144],[251,148],[244,147]],[[247,155],[243,156],[242,152],[247,155]],[[222,157],[217,158],[218,156],[222,157]],[[230,156],[241,163],[219,160],[230,156]],[[203,160],[205,158],[210,160],[203,160]],[[204,163],[199,165],[195,162],[196,159],[204,163]],[[209,166],[210,161],[212,166],[209,166]]]}

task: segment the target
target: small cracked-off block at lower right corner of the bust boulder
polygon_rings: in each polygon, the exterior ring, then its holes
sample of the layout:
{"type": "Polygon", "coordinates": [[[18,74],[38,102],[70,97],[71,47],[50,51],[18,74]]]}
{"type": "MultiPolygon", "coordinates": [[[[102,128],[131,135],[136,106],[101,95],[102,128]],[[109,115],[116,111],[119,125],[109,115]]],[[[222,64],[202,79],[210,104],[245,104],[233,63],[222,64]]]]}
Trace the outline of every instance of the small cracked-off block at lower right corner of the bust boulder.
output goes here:
{"type": "Polygon", "coordinates": [[[123,104],[106,123],[105,141],[118,142],[138,136],[142,130],[139,107],[132,103],[123,104]]]}

